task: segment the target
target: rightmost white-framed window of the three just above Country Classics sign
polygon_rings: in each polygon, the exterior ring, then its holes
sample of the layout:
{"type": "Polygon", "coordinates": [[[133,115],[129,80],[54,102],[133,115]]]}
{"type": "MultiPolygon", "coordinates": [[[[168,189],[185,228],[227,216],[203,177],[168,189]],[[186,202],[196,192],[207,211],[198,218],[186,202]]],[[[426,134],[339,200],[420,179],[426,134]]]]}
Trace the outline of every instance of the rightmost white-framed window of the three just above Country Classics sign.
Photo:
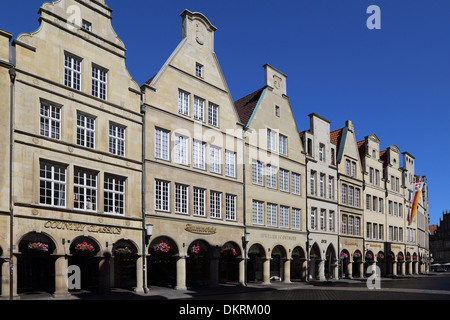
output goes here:
{"type": "Polygon", "coordinates": [[[125,213],[125,180],[105,175],[104,183],[104,211],[105,213],[125,213]]]}

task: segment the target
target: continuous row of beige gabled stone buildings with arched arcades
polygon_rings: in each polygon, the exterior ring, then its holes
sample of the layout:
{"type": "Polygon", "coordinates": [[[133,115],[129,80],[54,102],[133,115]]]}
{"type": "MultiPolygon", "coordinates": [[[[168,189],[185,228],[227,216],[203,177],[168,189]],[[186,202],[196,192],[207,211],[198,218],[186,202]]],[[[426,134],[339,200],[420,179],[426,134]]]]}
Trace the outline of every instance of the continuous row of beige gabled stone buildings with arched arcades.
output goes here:
{"type": "Polygon", "coordinates": [[[351,121],[310,114],[299,130],[267,64],[234,102],[201,13],[183,11],[181,41],[139,86],[111,13],[59,0],[35,32],[0,30],[2,298],[428,271],[413,156],[401,167],[351,121]]]}

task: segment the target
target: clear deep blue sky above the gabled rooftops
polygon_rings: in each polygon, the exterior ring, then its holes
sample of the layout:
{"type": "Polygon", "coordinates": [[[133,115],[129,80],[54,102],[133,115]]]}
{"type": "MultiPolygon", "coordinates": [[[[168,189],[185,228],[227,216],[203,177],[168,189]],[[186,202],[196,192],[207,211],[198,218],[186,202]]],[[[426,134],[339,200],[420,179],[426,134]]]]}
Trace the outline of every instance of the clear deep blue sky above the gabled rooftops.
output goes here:
{"type": "MultiPolygon", "coordinates": [[[[43,1],[8,1],[0,29],[17,37],[38,28],[43,1]]],[[[352,120],[358,140],[375,133],[416,158],[429,183],[430,223],[450,210],[450,1],[448,0],[107,0],[127,47],[127,67],[142,84],[181,40],[184,9],[218,28],[215,52],[234,100],[264,85],[262,66],[287,74],[300,131],[308,114],[352,120]],[[368,6],[381,9],[369,30],[368,6]]]]}

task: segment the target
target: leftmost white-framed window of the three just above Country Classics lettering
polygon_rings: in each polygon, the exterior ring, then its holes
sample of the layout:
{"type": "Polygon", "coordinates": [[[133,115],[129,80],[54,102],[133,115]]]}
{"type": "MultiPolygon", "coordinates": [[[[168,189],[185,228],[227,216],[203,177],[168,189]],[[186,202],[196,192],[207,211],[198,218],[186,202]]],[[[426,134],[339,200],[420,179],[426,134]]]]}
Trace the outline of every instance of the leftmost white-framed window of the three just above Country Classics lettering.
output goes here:
{"type": "Polygon", "coordinates": [[[66,167],[42,161],[39,169],[39,203],[65,207],[66,167]]]}

